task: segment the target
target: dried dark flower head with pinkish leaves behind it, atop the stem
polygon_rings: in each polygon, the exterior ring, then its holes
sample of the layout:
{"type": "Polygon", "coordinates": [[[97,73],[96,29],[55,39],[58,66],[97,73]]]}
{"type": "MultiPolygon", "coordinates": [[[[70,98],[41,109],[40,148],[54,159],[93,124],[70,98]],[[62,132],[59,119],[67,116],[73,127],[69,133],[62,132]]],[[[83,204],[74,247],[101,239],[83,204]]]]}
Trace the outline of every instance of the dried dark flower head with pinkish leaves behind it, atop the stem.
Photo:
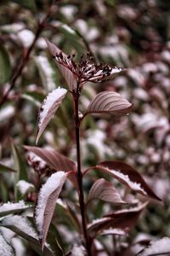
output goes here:
{"type": "Polygon", "coordinates": [[[103,63],[95,63],[94,58],[87,54],[82,55],[80,61],[74,61],[75,55],[65,55],[57,46],[48,42],[48,49],[57,61],[58,67],[65,77],[71,90],[82,87],[88,81],[93,83],[104,82],[113,79],[117,73],[122,72],[121,67],[111,67],[103,63]],[[76,83],[77,82],[77,83],[76,83]]]}

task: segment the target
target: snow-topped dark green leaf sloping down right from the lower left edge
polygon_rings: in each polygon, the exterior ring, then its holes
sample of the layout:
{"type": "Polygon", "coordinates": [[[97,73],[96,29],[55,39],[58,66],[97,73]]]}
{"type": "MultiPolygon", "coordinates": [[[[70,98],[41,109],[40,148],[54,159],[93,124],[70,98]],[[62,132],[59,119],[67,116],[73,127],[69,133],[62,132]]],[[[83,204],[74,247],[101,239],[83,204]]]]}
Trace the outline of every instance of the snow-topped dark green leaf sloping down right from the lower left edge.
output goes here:
{"type": "Polygon", "coordinates": [[[33,229],[31,222],[28,218],[19,215],[10,216],[7,218],[3,218],[3,220],[1,220],[0,222],[0,226],[14,231],[14,233],[26,239],[26,241],[28,241],[31,245],[32,249],[34,249],[39,255],[55,255],[50,247],[48,247],[48,245],[45,245],[44,251],[42,253],[37,233],[33,229]]]}

